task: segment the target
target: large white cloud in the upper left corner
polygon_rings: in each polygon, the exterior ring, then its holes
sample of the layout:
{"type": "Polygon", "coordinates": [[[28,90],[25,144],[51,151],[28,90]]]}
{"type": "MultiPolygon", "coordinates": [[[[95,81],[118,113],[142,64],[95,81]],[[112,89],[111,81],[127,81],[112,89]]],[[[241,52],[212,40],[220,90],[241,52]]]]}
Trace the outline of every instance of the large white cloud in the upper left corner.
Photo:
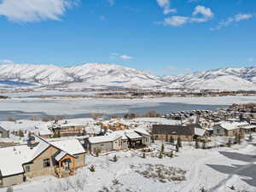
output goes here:
{"type": "Polygon", "coordinates": [[[79,0],[3,0],[0,16],[17,22],[61,20],[65,11],[79,0]]]}

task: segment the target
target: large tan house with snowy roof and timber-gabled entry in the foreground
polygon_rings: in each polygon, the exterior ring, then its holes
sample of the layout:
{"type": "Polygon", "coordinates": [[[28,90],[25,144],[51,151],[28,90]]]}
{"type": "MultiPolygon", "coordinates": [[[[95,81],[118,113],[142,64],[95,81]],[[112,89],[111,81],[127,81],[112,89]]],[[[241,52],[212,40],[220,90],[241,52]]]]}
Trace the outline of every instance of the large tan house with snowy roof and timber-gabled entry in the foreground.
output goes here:
{"type": "Polygon", "coordinates": [[[35,143],[0,148],[0,187],[42,175],[67,177],[85,165],[85,151],[78,140],[48,142],[35,137],[35,143]]]}

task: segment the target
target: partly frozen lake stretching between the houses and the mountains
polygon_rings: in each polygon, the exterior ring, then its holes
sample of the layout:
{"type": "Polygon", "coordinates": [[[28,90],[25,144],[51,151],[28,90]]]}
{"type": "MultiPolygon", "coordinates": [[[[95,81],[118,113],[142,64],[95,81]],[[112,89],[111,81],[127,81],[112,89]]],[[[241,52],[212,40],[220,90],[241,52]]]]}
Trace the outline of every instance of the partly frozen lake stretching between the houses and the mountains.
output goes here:
{"type": "Polygon", "coordinates": [[[0,120],[14,117],[27,119],[35,115],[88,117],[90,113],[107,115],[123,113],[145,113],[156,110],[159,113],[173,111],[210,109],[226,107],[232,103],[256,102],[256,96],[221,97],[169,97],[153,99],[35,99],[17,98],[0,101],[0,120]]]}

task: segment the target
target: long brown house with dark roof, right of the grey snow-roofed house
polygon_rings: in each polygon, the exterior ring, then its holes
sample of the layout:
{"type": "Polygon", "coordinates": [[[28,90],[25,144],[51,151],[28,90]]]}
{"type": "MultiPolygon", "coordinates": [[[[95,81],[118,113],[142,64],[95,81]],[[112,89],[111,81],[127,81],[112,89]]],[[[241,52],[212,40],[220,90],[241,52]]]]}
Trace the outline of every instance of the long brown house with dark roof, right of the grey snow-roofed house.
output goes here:
{"type": "Polygon", "coordinates": [[[195,136],[196,125],[153,125],[152,134],[155,140],[175,141],[180,137],[182,141],[192,142],[195,136]]]}

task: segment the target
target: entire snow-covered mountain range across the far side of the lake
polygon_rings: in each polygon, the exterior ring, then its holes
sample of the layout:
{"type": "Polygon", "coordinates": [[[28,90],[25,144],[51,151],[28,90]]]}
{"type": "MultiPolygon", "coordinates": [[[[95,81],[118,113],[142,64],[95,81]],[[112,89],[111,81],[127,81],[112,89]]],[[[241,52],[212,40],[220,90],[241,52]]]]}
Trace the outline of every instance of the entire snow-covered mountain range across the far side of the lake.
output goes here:
{"type": "Polygon", "coordinates": [[[0,88],[19,86],[82,88],[193,88],[256,90],[256,67],[227,67],[196,73],[157,76],[130,67],[87,63],[54,65],[0,65],[0,88]]]}

